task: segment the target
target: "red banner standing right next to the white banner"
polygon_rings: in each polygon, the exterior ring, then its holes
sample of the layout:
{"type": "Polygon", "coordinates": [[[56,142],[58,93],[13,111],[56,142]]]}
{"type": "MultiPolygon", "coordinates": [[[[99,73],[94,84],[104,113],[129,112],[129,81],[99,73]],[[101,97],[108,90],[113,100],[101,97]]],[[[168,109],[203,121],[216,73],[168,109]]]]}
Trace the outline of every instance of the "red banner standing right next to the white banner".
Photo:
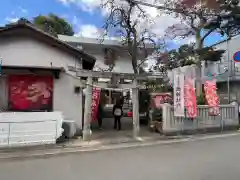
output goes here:
{"type": "Polygon", "coordinates": [[[197,100],[194,88],[194,79],[187,78],[184,83],[184,99],[187,117],[197,117],[197,100]]]}

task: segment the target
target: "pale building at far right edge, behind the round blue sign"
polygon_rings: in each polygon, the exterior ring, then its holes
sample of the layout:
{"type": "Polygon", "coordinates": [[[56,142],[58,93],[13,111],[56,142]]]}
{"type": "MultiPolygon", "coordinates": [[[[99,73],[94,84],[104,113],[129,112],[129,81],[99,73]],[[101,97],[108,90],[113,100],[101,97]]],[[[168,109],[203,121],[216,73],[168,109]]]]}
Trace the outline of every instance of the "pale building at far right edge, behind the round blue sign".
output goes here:
{"type": "Polygon", "coordinates": [[[230,102],[237,100],[240,103],[240,63],[234,62],[233,56],[240,51],[240,35],[232,37],[230,40],[221,41],[213,47],[219,50],[225,50],[222,60],[213,62],[205,68],[205,75],[215,73],[218,75],[218,91],[221,101],[228,102],[228,80],[230,102]]]}

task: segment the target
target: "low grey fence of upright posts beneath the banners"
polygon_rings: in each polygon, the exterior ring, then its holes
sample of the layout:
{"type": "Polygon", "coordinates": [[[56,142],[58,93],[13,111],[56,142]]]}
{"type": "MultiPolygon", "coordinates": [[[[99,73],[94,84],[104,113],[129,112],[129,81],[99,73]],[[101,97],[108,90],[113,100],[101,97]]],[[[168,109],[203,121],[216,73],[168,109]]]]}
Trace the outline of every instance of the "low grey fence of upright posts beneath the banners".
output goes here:
{"type": "Polygon", "coordinates": [[[228,127],[237,127],[238,106],[237,105],[220,105],[220,115],[211,116],[209,107],[201,105],[197,107],[197,118],[175,117],[174,109],[171,105],[164,105],[163,108],[163,131],[181,132],[189,130],[207,130],[219,129],[224,130],[228,127]]]}

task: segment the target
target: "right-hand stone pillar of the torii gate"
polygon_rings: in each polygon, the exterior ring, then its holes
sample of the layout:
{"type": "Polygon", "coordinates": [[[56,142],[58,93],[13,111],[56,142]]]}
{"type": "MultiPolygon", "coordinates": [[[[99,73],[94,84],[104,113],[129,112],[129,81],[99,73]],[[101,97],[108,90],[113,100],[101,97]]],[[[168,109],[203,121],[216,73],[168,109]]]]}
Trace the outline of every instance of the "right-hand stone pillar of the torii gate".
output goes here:
{"type": "Polygon", "coordinates": [[[133,138],[138,138],[140,126],[139,126],[139,99],[138,99],[138,87],[137,80],[133,81],[134,88],[132,88],[132,103],[133,103],[133,138]]]}

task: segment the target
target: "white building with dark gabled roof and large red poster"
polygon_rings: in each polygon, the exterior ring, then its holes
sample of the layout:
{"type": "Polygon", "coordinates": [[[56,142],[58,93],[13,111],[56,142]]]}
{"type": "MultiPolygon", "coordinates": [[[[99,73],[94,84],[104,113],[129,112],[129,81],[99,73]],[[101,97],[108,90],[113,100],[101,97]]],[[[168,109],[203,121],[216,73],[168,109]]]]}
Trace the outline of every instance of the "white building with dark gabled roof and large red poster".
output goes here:
{"type": "Polygon", "coordinates": [[[61,111],[82,126],[82,94],[68,66],[95,58],[27,24],[0,29],[1,111],[61,111]]]}

